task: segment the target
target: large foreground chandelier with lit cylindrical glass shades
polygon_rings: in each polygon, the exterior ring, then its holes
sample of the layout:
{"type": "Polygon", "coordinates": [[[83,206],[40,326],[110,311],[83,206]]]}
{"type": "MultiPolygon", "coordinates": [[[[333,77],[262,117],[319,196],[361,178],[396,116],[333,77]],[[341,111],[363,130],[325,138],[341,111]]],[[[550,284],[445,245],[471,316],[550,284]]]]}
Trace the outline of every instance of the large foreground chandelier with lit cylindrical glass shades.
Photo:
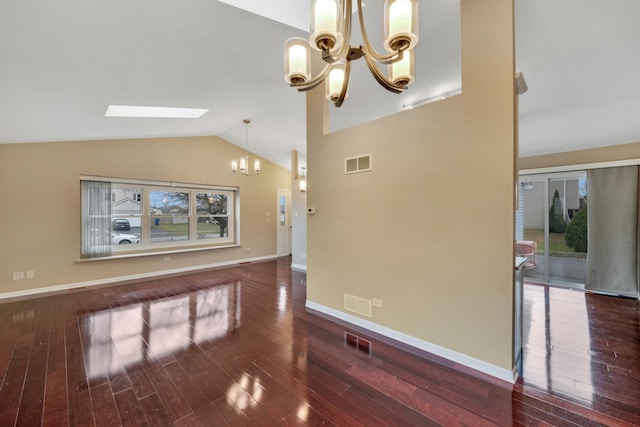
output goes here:
{"type": "Polygon", "coordinates": [[[309,41],[294,37],[285,42],[285,81],[299,91],[326,81],[326,97],[336,107],[347,98],[351,61],[364,58],[369,71],[385,89],[400,93],[415,79],[414,47],[418,43],[418,0],[385,0],[384,48],[378,53],[369,42],[357,0],[363,46],[351,46],[353,0],[312,0],[309,41]],[[323,70],[311,76],[309,46],[322,52],[323,70]],[[388,67],[387,75],[380,64],[388,67]]]}

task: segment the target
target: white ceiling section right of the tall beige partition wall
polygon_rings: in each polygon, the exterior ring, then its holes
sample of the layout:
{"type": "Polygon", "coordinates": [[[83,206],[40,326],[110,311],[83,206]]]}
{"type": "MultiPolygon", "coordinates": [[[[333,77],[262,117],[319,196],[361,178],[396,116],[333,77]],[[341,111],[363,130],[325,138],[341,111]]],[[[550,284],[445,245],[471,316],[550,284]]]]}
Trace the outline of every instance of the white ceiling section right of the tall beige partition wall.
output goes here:
{"type": "Polygon", "coordinates": [[[640,1],[515,4],[520,155],[639,142],[640,1]]]}

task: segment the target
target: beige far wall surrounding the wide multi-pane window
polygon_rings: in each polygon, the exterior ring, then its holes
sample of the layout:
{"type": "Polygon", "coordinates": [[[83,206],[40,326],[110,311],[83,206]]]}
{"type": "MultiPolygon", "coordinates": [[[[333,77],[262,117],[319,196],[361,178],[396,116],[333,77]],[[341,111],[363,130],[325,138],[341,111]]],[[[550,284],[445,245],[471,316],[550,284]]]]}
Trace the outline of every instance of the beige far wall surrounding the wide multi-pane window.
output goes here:
{"type": "Polygon", "coordinates": [[[0,145],[0,294],[275,255],[277,188],[290,175],[264,160],[260,176],[235,175],[242,153],[217,137],[0,145]],[[83,174],[240,187],[242,247],[79,263],[83,174]],[[27,270],[35,279],[12,280],[27,270]]]}

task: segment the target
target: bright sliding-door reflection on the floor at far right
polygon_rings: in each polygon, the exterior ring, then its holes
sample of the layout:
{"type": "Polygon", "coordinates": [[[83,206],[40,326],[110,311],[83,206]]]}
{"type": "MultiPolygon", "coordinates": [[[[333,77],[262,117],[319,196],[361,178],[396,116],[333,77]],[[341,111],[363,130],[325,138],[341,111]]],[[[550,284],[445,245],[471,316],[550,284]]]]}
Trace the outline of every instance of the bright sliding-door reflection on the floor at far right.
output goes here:
{"type": "Polygon", "coordinates": [[[590,403],[594,387],[584,293],[537,285],[525,285],[525,292],[525,383],[590,403]]]}

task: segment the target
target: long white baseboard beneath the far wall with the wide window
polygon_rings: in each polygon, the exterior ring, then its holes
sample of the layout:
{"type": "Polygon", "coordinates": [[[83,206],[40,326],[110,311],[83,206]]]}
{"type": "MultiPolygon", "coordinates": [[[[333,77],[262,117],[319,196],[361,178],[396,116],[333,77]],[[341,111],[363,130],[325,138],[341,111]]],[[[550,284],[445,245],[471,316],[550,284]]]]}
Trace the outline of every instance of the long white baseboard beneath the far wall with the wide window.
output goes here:
{"type": "Polygon", "coordinates": [[[19,299],[19,298],[35,297],[41,294],[56,294],[56,293],[66,292],[72,289],[91,288],[94,286],[103,286],[103,285],[109,285],[109,284],[116,284],[120,282],[132,282],[136,280],[150,279],[150,278],[160,277],[160,276],[191,273],[198,270],[208,270],[211,268],[229,267],[229,266],[240,265],[248,262],[269,261],[276,258],[277,258],[277,255],[266,255],[266,256],[253,257],[253,258],[237,259],[232,261],[216,262],[211,264],[201,264],[201,265],[195,265],[191,267],[174,268],[171,270],[159,270],[159,271],[153,271],[149,273],[132,274],[128,276],[109,277],[106,279],[99,279],[99,280],[88,280],[86,282],[67,283],[64,285],[47,286],[45,288],[25,289],[23,291],[14,291],[14,292],[4,292],[4,293],[0,293],[0,301],[4,299],[13,299],[13,298],[19,299]]]}

